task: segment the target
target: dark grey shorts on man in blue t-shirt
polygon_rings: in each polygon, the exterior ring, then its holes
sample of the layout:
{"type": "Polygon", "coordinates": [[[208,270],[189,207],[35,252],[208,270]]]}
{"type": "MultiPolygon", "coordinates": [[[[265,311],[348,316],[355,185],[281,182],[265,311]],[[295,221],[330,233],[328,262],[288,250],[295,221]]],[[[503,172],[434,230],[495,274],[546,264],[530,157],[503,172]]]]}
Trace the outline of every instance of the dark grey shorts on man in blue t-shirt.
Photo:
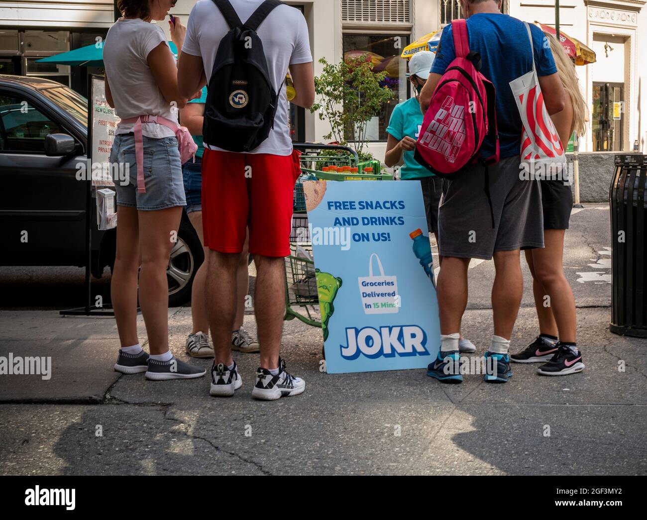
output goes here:
{"type": "Polygon", "coordinates": [[[473,164],[452,180],[444,179],[438,211],[442,256],[489,260],[495,251],[543,247],[542,191],[539,180],[521,180],[520,156],[489,166],[490,204],[485,167],[473,164]]]}

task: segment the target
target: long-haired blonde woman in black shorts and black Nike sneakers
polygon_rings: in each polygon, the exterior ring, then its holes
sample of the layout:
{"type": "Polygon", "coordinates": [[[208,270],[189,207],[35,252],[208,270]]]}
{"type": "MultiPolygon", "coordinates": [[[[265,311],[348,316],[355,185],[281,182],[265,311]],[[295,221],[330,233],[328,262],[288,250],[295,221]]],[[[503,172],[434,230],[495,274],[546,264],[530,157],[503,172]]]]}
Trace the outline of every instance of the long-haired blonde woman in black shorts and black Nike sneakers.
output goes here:
{"type": "MultiPolygon", "coordinates": [[[[544,34],[567,93],[564,110],[551,116],[565,148],[574,131],[577,135],[584,133],[587,105],[580,92],[573,61],[552,34],[544,34]]],[[[568,229],[573,197],[570,182],[565,179],[542,180],[541,185],[544,247],[525,252],[532,273],[540,334],[524,351],[512,354],[510,361],[546,362],[537,369],[538,374],[565,376],[584,369],[575,337],[575,298],[562,266],[564,233],[568,229]],[[550,298],[549,307],[544,305],[546,296],[550,298]]]]}

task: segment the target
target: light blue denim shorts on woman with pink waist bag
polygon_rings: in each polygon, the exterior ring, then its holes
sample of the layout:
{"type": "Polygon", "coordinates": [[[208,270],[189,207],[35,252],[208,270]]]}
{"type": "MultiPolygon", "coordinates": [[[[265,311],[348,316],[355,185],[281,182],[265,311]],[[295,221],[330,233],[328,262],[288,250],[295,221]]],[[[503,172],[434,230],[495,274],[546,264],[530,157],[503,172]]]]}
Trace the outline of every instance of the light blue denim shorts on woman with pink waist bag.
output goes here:
{"type": "Polygon", "coordinates": [[[124,185],[115,182],[117,205],[129,206],[142,211],[164,210],[186,205],[182,186],[180,151],[175,137],[144,138],[144,186],[146,193],[137,191],[137,159],[135,136],[115,136],[110,153],[110,162],[128,168],[124,185]]]}

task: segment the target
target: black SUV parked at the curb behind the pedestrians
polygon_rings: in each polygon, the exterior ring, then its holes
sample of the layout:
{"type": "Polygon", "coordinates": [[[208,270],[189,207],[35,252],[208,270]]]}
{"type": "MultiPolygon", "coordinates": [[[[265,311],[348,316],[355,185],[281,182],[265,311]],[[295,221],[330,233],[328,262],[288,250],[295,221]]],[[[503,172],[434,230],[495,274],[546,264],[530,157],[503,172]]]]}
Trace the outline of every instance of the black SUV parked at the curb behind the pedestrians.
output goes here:
{"type": "MultiPolygon", "coordinates": [[[[0,75],[1,266],[85,266],[87,186],[76,165],[85,164],[86,147],[85,98],[55,81],[0,75]]],[[[96,211],[91,219],[91,272],[100,278],[114,265],[116,230],[98,230],[96,211]]],[[[167,271],[171,307],[190,301],[203,259],[183,211],[167,271]]]]}

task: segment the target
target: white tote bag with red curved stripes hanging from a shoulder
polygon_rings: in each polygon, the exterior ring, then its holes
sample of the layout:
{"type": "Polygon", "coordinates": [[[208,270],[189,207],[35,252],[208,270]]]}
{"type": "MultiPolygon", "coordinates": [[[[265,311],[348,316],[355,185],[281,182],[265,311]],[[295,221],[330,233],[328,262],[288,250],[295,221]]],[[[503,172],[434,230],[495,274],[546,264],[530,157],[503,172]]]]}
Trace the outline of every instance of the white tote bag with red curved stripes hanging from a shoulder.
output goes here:
{"type": "Polygon", "coordinates": [[[527,22],[523,22],[528,31],[532,51],[532,70],[516,80],[510,81],[510,89],[517,103],[523,135],[521,135],[521,161],[531,164],[551,164],[562,168],[566,162],[564,147],[560,141],[551,116],[543,103],[542,89],[539,86],[537,70],[534,67],[534,47],[532,34],[527,22]]]}

